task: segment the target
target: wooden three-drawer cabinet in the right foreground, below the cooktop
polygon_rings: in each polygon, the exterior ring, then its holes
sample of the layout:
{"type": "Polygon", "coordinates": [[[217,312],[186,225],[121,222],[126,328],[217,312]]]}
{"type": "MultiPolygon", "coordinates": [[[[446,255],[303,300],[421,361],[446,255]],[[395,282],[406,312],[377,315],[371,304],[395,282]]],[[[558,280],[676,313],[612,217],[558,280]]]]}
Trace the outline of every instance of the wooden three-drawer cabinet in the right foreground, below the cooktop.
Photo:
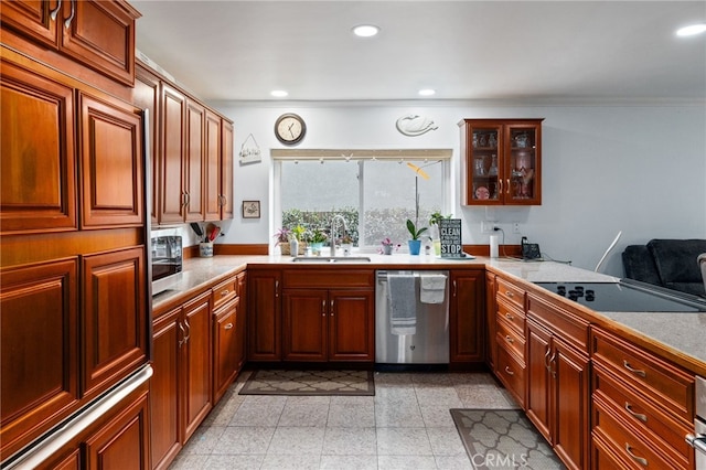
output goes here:
{"type": "Polygon", "coordinates": [[[591,353],[591,453],[623,468],[696,468],[684,440],[694,432],[694,374],[596,327],[591,353]]]}

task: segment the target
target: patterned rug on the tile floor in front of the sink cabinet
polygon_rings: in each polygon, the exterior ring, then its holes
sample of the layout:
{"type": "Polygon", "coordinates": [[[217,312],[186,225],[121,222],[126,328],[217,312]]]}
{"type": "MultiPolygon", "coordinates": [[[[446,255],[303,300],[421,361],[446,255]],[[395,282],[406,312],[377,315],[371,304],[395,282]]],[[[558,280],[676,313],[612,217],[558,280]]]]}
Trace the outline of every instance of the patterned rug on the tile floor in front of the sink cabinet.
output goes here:
{"type": "Polygon", "coordinates": [[[375,395],[372,371],[255,371],[240,395],[375,395]]]}

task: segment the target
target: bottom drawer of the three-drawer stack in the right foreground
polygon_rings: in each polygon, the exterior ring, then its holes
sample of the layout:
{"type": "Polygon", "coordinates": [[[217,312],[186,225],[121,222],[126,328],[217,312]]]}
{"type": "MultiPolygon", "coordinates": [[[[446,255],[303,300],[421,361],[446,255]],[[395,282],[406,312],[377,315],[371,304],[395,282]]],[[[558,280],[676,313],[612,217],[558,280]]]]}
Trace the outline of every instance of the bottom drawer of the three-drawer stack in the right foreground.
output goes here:
{"type": "Polygon", "coordinates": [[[670,458],[670,449],[624,426],[600,400],[593,400],[593,432],[635,469],[687,469],[670,458]]]}

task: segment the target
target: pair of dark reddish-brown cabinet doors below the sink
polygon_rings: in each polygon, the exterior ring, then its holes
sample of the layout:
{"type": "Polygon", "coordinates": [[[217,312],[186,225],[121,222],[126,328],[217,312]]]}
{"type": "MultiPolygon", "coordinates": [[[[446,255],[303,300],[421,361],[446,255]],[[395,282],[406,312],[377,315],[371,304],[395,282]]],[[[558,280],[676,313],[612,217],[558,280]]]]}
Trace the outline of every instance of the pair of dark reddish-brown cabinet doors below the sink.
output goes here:
{"type": "Polygon", "coordinates": [[[375,359],[372,289],[285,289],[282,301],[285,361],[375,359]]]}

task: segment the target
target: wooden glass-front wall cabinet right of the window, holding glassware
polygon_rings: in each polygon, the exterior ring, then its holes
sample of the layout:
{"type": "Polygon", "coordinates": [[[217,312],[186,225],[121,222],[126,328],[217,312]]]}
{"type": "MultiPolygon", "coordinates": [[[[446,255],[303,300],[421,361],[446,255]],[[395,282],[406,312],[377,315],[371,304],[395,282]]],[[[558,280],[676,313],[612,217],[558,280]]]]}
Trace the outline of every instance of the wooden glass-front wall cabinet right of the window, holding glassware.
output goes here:
{"type": "Polygon", "coordinates": [[[464,119],[462,205],[542,204],[542,121],[464,119]]]}

